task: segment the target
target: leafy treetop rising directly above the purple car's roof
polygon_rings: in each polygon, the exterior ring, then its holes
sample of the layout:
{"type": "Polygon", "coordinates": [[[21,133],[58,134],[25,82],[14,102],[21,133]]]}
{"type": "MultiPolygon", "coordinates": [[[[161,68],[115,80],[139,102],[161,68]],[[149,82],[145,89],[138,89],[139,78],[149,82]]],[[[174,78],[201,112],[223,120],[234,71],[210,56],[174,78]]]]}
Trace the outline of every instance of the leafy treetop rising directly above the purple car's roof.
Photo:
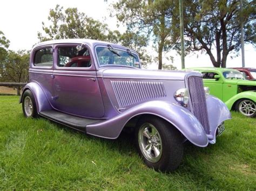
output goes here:
{"type": "Polygon", "coordinates": [[[63,7],[56,5],[55,9],[50,9],[48,20],[52,23],[50,26],[45,26],[44,22],[42,23],[43,30],[48,36],[44,37],[41,32],[38,32],[38,38],[41,41],[65,38],[113,40],[114,33],[116,33],[116,31],[109,33],[110,30],[106,24],[87,17],[77,8],[63,10],[63,7]]]}

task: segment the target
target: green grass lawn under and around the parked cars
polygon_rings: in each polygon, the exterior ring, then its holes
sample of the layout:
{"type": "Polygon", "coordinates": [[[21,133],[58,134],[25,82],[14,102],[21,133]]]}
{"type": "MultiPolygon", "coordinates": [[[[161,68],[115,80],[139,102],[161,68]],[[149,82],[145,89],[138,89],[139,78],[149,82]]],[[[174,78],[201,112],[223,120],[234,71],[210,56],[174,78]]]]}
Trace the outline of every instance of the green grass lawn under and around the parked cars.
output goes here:
{"type": "Polygon", "coordinates": [[[181,166],[147,168],[133,138],[87,136],[44,118],[26,119],[17,96],[0,96],[0,190],[256,189],[256,119],[232,112],[215,145],[186,144],[181,166]]]}

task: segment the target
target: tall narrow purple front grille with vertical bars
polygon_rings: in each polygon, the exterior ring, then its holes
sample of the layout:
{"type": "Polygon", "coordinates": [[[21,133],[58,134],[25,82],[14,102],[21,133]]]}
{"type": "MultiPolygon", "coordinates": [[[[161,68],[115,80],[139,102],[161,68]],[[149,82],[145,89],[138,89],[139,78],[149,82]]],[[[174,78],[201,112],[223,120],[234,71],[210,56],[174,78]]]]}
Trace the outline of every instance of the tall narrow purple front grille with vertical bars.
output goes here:
{"type": "Polygon", "coordinates": [[[201,125],[203,125],[205,132],[207,134],[210,134],[210,125],[208,121],[204,84],[201,77],[188,77],[188,89],[190,91],[190,99],[193,113],[197,117],[201,125]]]}

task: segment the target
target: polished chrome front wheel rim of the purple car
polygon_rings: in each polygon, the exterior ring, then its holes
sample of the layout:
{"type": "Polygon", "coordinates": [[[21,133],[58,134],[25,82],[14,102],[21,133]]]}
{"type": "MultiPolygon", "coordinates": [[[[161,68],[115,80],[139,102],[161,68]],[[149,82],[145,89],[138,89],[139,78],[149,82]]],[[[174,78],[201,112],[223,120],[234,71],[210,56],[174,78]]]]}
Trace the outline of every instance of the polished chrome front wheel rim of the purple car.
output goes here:
{"type": "Polygon", "coordinates": [[[144,157],[150,162],[160,160],[163,145],[157,129],[150,123],[144,123],[139,129],[139,147],[144,157]]]}

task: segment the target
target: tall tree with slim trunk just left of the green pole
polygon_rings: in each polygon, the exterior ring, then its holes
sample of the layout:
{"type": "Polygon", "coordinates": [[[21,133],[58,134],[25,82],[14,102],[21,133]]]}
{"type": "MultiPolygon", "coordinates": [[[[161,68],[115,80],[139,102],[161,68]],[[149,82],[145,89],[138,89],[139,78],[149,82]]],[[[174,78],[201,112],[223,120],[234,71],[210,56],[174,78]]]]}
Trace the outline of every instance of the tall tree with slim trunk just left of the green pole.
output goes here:
{"type": "Polygon", "coordinates": [[[147,39],[153,38],[158,52],[158,69],[162,68],[163,51],[167,51],[172,44],[172,19],[169,16],[173,1],[141,1],[120,0],[113,4],[119,22],[126,24],[127,30],[144,34],[147,39]]]}

